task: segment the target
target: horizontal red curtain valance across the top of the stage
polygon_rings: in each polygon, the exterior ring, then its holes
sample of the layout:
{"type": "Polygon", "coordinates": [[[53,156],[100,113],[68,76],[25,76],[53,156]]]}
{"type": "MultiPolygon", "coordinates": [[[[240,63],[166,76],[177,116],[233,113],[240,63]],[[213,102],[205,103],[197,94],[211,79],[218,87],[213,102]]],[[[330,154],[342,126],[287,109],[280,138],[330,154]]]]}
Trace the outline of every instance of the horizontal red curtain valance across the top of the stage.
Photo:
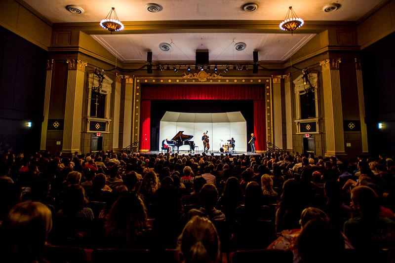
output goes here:
{"type": "Polygon", "coordinates": [[[144,85],[142,100],[264,100],[262,85],[144,85]]]}

